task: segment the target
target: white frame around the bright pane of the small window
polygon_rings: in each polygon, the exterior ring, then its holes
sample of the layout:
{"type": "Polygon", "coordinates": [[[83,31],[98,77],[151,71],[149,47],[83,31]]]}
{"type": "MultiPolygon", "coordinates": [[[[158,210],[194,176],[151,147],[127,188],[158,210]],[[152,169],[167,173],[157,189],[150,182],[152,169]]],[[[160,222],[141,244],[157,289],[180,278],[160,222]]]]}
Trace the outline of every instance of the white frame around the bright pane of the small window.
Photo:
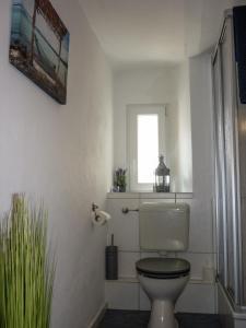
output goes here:
{"type": "MultiPolygon", "coordinates": [[[[127,105],[127,164],[130,191],[153,191],[153,184],[138,183],[138,115],[157,115],[159,154],[165,154],[165,104],[127,105]]],[[[154,175],[153,175],[154,177],[154,175]]]]}

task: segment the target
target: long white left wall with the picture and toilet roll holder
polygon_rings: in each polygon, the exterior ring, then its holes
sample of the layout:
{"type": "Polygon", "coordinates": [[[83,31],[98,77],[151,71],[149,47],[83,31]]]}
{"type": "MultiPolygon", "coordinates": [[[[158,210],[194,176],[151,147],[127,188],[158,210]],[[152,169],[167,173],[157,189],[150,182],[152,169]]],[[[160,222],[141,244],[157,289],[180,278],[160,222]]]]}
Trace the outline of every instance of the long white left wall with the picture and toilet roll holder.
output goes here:
{"type": "Polygon", "coordinates": [[[68,104],[9,65],[11,0],[0,2],[0,204],[12,192],[43,198],[57,245],[52,327],[83,328],[104,304],[104,207],[112,185],[112,75],[77,0],[52,0],[70,31],[68,104]]]}

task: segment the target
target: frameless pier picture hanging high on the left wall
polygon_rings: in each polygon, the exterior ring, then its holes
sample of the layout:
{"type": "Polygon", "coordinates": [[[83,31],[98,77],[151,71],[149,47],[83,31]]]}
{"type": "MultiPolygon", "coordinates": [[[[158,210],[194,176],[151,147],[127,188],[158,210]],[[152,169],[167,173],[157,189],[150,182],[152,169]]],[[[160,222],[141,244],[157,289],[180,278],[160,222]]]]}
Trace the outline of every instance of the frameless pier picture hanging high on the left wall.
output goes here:
{"type": "Polygon", "coordinates": [[[9,58],[52,98],[66,104],[69,32],[49,0],[13,0],[9,58]]]}

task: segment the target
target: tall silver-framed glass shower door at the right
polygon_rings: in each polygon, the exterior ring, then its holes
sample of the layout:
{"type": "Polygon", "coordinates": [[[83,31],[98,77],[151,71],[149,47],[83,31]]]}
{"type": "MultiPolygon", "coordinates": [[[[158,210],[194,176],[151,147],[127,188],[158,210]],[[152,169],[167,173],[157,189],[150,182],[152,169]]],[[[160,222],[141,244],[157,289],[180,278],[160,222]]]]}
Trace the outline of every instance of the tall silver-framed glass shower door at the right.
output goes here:
{"type": "Polygon", "coordinates": [[[213,91],[218,276],[235,304],[242,305],[246,300],[246,283],[243,283],[246,265],[242,263],[242,253],[246,254],[246,242],[242,251],[242,235],[246,239],[246,108],[238,107],[236,98],[231,16],[225,19],[213,59],[213,91]]]}

